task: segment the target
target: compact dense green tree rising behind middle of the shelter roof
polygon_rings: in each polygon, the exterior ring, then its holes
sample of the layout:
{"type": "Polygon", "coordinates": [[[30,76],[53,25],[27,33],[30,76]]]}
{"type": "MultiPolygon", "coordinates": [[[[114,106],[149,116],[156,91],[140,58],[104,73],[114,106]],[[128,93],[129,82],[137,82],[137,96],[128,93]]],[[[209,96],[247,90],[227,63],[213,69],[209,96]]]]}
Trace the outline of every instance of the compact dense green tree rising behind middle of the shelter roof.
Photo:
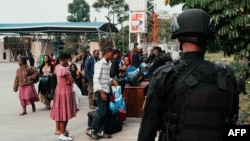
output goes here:
{"type": "Polygon", "coordinates": [[[89,22],[90,21],[90,6],[85,0],[73,0],[68,5],[70,15],[67,20],[70,22],[89,22]]]}

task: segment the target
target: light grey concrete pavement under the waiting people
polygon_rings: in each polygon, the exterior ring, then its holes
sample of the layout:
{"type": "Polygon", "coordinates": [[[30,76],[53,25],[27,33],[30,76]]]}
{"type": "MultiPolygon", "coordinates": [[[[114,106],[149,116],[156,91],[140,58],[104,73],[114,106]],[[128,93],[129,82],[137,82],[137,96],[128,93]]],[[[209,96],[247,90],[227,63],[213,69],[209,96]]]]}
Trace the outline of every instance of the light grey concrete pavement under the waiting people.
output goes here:
{"type": "MultiPolygon", "coordinates": [[[[50,111],[40,102],[36,103],[37,111],[32,112],[27,107],[28,114],[19,116],[21,106],[18,94],[13,92],[13,83],[18,68],[17,63],[0,63],[0,140],[2,141],[56,141],[54,135],[55,123],[49,118],[50,111]]],[[[68,130],[74,141],[91,140],[86,134],[88,100],[81,97],[80,111],[77,117],[70,120],[68,130]]],[[[140,125],[140,118],[127,118],[123,130],[113,135],[112,139],[103,141],[136,141],[140,125]]]]}

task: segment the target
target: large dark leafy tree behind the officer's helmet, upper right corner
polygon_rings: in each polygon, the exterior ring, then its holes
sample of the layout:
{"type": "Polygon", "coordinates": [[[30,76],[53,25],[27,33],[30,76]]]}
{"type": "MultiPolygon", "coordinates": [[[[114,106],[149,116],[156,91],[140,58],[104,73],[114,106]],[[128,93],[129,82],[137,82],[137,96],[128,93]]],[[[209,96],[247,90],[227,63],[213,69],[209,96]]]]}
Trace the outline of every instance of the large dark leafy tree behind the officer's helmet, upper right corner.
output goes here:
{"type": "MultiPolygon", "coordinates": [[[[249,0],[171,0],[170,5],[184,3],[183,9],[201,8],[216,22],[215,43],[229,53],[249,56],[250,1],[249,0]]],[[[236,57],[237,58],[237,57],[236,57]]]]}

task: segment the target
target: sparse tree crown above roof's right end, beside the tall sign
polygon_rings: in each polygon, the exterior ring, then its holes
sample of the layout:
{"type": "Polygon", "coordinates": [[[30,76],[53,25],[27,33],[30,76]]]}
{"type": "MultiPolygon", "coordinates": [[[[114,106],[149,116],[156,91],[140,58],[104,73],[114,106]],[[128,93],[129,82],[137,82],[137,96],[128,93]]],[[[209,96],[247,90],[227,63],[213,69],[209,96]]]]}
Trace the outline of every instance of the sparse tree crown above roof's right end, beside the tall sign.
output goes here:
{"type": "Polygon", "coordinates": [[[111,16],[116,17],[119,24],[129,18],[129,5],[125,3],[125,0],[97,0],[92,6],[98,12],[107,9],[108,15],[106,16],[109,18],[111,16]]]}

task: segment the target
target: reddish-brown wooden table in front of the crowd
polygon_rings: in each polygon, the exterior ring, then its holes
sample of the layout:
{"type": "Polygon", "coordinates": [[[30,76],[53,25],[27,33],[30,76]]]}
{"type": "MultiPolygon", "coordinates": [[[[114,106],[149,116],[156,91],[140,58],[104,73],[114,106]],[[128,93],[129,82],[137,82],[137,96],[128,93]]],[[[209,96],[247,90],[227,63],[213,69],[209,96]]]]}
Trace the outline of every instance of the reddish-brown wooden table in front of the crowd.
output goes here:
{"type": "Polygon", "coordinates": [[[143,81],[140,86],[125,85],[124,97],[127,108],[127,117],[141,117],[144,97],[148,89],[148,81],[143,81]]]}

